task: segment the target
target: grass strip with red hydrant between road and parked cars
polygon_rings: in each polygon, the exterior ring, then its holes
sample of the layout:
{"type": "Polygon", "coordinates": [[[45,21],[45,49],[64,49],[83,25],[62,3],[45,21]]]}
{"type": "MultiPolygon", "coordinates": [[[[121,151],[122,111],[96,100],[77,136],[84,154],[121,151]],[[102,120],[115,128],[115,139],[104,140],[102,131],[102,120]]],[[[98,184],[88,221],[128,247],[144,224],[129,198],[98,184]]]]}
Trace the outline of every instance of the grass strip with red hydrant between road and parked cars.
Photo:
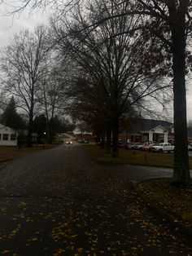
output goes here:
{"type": "MultiPolygon", "coordinates": [[[[119,150],[119,157],[112,158],[107,154],[106,149],[101,149],[98,145],[85,145],[85,149],[90,156],[94,157],[100,162],[108,164],[128,164],[138,166],[161,166],[172,167],[173,154],[172,153],[157,153],[157,152],[143,152],[139,150],[119,150]]],[[[192,157],[190,157],[190,168],[192,168],[192,157]]]]}

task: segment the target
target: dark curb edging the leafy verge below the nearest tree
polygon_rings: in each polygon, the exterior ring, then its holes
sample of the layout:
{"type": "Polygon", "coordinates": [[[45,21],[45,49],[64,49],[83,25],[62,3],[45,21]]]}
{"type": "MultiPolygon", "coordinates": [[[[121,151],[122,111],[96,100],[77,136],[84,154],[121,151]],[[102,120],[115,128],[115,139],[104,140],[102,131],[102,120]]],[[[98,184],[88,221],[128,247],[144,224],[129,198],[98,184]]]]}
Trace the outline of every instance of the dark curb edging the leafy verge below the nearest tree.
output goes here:
{"type": "Polygon", "coordinates": [[[176,222],[175,219],[172,217],[172,215],[168,214],[166,210],[163,210],[162,208],[159,208],[158,205],[156,205],[153,201],[151,201],[148,197],[145,196],[142,192],[140,192],[137,189],[137,183],[131,183],[131,187],[133,188],[133,191],[137,193],[139,197],[142,198],[143,201],[145,201],[147,207],[149,207],[151,210],[155,212],[155,214],[158,214],[160,217],[165,218],[168,223],[172,225],[172,227],[175,227],[175,231],[180,231],[182,233],[185,233],[185,235],[190,236],[192,238],[192,228],[186,226],[185,224],[181,222],[176,222]]]}

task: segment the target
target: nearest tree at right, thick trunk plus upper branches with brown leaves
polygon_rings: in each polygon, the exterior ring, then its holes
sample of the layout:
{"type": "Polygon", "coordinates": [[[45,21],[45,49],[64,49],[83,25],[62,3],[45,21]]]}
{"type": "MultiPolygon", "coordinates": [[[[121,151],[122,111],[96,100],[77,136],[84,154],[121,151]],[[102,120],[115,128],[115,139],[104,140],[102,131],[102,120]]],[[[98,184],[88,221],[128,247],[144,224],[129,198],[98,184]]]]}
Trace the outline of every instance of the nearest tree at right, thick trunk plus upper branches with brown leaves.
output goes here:
{"type": "Polygon", "coordinates": [[[190,183],[189,157],[187,150],[187,123],[185,98],[185,73],[187,70],[187,38],[191,37],[190,0],[146,1],[137,0],[137,11],[146,17],[147,30],[155,34],[162,47],[171,54],[172,83],[174,95],[174,167],[173,183],[181,186],[190,183]],[[155,29],[158,26],[159,29],[155,29]]]}

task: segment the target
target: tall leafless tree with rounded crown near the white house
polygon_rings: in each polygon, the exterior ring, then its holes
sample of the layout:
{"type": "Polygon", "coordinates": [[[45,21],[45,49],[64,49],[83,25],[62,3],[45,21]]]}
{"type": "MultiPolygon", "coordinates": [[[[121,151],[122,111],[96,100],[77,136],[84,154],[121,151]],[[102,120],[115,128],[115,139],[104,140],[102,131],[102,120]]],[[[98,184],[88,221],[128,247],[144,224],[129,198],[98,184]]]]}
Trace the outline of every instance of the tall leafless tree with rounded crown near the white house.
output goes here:
{"type": "Polygon", "coordinates": [[[7,93],[15,96],[19,107],[28,115],[28,146],[32,143],[33,115],[37,93],[46,75],[46,29],[35,32],[24,30],[16,34],[2,51],[3,85],[7,93]]]}

